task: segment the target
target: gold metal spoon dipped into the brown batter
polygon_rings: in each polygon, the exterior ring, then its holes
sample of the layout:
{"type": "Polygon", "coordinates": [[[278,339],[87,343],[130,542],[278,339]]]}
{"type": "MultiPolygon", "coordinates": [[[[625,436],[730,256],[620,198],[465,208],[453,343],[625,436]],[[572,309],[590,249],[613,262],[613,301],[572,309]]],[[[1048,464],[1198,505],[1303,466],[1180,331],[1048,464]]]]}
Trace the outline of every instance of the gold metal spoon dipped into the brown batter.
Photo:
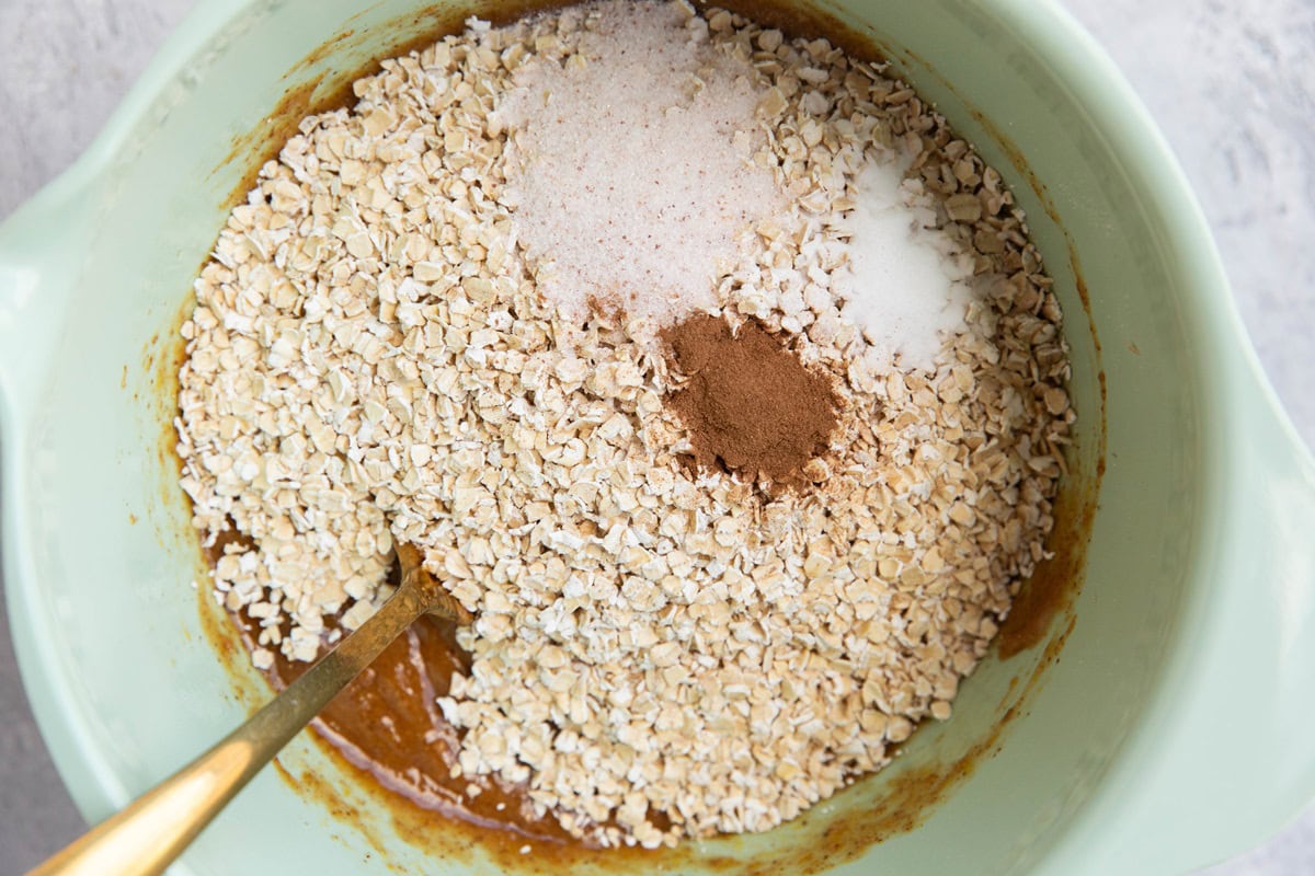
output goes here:
{"type": "Polygon", "coordinates": [[[218,745],[103,821],[28,876],[156,876],[255,774],[426,612],[458,624],[471,613],[397,545],[397,592],[360,628],[218,745]]]}

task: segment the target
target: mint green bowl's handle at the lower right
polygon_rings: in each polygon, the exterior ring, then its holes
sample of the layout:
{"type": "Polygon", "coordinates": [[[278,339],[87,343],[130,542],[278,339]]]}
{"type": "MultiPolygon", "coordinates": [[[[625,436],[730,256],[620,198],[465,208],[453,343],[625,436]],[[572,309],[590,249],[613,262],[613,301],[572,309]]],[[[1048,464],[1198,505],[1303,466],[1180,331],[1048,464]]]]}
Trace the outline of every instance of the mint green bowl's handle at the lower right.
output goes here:
{"type": "Polygon", "coordinates": [[[1251,349],[1239,359],[1216,397],[1237,402],[1210,460],[1230,479],[1197,550],[1208,583],[1070,873],[1190,872],[1315,800],[1315,460],[1251,349]]]}

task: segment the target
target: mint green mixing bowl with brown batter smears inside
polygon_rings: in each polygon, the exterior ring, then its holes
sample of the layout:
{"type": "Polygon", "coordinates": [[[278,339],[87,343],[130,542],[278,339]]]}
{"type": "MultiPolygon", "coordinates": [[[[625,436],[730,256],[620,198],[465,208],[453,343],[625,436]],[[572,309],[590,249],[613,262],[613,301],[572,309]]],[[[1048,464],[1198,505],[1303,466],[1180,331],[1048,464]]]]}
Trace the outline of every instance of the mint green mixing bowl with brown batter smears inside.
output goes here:
{"type": "MultiPolygon", "coordinates": [[[[203,570],[166,439],[170,336],[258,148],[239,139],[230,155],[234,137],[268,127],[289,89],[321,75],[330,89],[431,28],[425,8],[201,3],[82,160],[0,230],[9,616],[37,718],[92,821],[246,713],[188,587],[203,570]]],[[[1107,471],[1085,586],[1049,638],[1059,659],[1026,697],[1011,682],[1043,647],[989,659],[955,718],[885,774],[782,829],[694,851],[825,851],[828,825],[992,739],[1006,704],[1018,717],[993,756],[836,872],[1168,873],[1256,843],[1315,792],[1315,465],[1257,368],[1191,193],[1053,3],[835,12],[1005,171],[1068,315],[1074,470],[1090,482],[1101,461],[1103,370],[1107,471]]],[[[283,764],[321,775],[352,823],[267,771],[174,872],[334,876],[387,872],[385,859],[497,872],[477,852],[402,842],[305,735],[283,764]]]]}

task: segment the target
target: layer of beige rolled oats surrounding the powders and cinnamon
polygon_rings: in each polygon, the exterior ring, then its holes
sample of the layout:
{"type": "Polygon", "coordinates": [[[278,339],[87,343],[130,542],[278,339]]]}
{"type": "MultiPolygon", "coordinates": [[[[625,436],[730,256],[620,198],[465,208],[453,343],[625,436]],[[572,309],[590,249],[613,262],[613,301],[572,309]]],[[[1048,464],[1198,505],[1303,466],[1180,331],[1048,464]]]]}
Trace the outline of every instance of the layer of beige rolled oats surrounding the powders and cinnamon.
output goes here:
{"type": "Polygon", "coordinates": [[[302,122],[196,282],[179,452],[205,538],[231,520],[255,545],[214,584],[262,619],[258,665],[313,659],[327,616],[359,625],[393,541],[416,544],[479,617],[441,701],[469,793],[523,783],[579,837],[656,846],[768,829],[949,716],[1043,557],[1073,412],[1020,213],[909,88],[823,39],[625,4],[759,77],[790,210],[715,301],[789,332],[846,406],[817,490],[690,475],[663,351],[614,313],[580,334],[540,294],[548,253],[526,257],[508,193],[518,131],[490,125],[518,67],[569,75],[621,8],[472,24],[302,122]],[[878,366],[832,280],[876,144],[914,156],[973,253],[978,297],[934,370],[878,366]]]}

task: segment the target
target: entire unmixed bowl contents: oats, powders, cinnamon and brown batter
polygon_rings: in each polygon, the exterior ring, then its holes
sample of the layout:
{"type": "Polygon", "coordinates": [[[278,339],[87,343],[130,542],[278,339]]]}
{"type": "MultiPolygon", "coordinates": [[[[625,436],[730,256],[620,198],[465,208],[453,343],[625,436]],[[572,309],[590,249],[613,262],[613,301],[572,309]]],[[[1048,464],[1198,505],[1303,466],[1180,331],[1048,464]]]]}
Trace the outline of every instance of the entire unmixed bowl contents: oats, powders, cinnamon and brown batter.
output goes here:
{"type": "Polygon", "coordinates": [[[598,846],[767,830],[949,718],[1074,418],[999,176],[880,64],[681,3],[472,20],[355,95],[183,327],[183,486],[256,666],[417,546],[476,621],[329,738],[598,846]]]}

